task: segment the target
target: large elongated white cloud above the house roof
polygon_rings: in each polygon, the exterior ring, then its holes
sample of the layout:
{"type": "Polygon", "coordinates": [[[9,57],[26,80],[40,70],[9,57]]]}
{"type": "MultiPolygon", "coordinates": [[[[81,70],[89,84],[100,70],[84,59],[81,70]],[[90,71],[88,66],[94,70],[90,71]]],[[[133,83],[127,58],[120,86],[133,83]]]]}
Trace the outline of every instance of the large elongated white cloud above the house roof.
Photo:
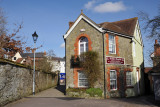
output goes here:
{"type": "Polygon", "coordinates": [[[104,4],[99,4],[98,6],[95,6],[93,9],[95,12],[98,13],[107,13],[107,12],[119,12],[119,11],[125,11],[126,6],[123,4],[123,2],[105,2],[104,4]]]}

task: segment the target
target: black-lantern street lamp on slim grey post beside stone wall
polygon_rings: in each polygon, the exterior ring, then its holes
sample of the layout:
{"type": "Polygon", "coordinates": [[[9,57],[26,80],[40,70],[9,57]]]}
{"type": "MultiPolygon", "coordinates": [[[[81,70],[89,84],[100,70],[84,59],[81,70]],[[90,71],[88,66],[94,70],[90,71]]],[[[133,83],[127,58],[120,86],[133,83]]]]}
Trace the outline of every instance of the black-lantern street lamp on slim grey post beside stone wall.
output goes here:
{"type": "Polygon", "coordinates": [[[36,51],[36,41],[38,39],[38,35],[36,34],[36,31],[34,32],[34,34],[32,34],[32,37],[33,37],[33,41],[34,41],[33,95],[35,95],[35,51],[36,51]]]}

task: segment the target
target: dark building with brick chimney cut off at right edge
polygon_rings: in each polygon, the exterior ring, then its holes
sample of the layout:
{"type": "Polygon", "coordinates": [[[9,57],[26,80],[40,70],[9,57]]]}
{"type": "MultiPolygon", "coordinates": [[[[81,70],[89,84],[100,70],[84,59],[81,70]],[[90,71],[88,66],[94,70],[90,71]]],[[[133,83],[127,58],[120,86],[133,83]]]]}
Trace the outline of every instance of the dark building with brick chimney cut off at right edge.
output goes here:
{"type": "Polygon", "coordinates": [[[160,101],[160,44],[155,40],[154,52],[151,54],[153,67],[148,70],[151,92],[155,95],[155,100],[160,101]]]}

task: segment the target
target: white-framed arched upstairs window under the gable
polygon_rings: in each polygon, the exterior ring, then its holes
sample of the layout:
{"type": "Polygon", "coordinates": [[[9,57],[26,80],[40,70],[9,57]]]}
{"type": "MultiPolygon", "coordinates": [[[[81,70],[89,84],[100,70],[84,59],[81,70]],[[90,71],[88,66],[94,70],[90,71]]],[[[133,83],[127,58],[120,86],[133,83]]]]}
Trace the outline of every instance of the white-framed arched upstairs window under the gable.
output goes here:
{"type": "Polygon", "coordinates": [[[79,40],[79,54],[88,51],[88,39],[86,37],[82,37],[79,40]]]}

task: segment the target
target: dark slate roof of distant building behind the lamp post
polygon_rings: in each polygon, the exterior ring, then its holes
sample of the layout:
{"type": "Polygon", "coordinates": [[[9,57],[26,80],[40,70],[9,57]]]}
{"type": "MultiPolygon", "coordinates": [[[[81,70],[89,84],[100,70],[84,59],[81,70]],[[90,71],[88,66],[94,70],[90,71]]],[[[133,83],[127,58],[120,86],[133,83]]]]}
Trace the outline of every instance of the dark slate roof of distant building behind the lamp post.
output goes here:
{"type": "MultiPolygon", "coordinates": [[[[30,58],[34,57],[34,53],[21,53],[22,58],[27,58],[28,56],[30,58]]],[[[42,52],[35,53],[36,58],[43,58],[45,55],[42,52]]]]}

